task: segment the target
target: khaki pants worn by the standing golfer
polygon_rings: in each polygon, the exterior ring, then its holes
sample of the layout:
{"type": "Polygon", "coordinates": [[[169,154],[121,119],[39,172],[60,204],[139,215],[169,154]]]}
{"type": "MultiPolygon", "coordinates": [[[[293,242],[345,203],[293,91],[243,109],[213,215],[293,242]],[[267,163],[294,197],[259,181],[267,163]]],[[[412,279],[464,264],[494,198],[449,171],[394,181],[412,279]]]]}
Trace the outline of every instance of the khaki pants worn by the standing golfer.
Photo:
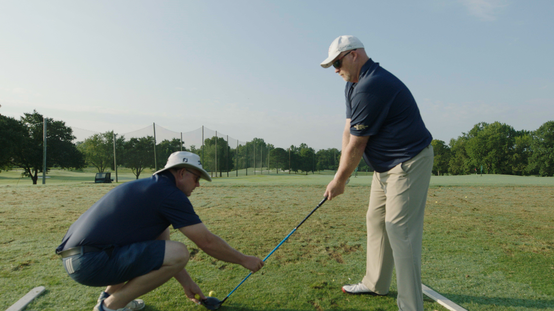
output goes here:
{"type": "Polygon", "coordinates": [[[402,311],[423,311],[421,249],[423,214],[433,168],[433,147],[373,174],[367,210],[367,266],[362,283],[387,294],[396,267],[397,304],[402,311]]]}

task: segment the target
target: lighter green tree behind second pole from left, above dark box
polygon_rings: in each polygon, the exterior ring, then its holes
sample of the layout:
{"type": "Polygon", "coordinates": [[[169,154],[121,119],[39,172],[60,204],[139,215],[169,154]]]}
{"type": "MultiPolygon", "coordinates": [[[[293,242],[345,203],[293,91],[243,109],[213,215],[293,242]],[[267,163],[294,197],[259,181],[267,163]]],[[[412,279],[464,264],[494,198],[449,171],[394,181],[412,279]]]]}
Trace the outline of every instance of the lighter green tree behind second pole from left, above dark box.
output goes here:
{"type": "MultiPolygon", "coordinates": [[[[116,137],[116,153],[119,154],[119,162],[122,161],[121,152],[124,144],[124,137],[116,137]]],[[[98,173],[103,173],[108,167],[114,170],[114,132],[94,134],[80,143],[78,149],[85,155],[86,164],[98,169],[98,173]]]]}

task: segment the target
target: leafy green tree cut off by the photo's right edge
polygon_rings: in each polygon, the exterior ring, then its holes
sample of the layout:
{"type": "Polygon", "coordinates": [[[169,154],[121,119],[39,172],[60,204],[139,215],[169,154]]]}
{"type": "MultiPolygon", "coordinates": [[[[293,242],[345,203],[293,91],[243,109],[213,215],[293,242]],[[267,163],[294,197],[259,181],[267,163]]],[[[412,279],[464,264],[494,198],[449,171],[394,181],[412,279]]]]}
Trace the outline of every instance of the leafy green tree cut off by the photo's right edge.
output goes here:
{"type": "Polygon", "coordinates": [[[531,134],[531,149],[528,171],[538,171],[541,176],[554,176],[554,121],[543,123],[531,134]]]}

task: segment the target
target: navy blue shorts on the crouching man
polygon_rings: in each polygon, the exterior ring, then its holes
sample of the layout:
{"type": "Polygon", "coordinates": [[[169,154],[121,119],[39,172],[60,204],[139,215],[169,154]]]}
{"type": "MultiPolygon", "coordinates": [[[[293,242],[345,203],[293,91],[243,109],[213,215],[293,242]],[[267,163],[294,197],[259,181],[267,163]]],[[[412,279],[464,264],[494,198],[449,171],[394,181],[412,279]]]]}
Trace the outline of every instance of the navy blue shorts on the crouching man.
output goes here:
{"type": "Polygon", "coordinates": [[[160,269],[166,251],[165,240],[153,240],[62,258],[65,271],[74,281],[87,286],[108,286],[129,281],[160,269]]]}

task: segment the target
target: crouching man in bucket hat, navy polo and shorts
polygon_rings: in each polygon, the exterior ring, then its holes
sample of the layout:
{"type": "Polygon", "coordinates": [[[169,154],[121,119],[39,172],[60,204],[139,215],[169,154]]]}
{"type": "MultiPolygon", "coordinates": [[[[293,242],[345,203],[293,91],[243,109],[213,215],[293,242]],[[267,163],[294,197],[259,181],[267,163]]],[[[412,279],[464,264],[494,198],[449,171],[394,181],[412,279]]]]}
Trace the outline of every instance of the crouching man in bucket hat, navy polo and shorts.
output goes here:
{"type": "Polygon", "coordinates": [[[212,181],[197,154],[174,152],[165,168],[112,189],[69,227],[56,252],[76,282],[107,286],[94,311],[142,309],[136,298],[172,277],[193,302],[199,303],[195,294],[206,299],[184,269],[187,246],[170,241],[170,225],[218,260],[252,272],[263,267],[260,258],[240,253],[202,224],[187,198],[201,178],[212,181]]]}

